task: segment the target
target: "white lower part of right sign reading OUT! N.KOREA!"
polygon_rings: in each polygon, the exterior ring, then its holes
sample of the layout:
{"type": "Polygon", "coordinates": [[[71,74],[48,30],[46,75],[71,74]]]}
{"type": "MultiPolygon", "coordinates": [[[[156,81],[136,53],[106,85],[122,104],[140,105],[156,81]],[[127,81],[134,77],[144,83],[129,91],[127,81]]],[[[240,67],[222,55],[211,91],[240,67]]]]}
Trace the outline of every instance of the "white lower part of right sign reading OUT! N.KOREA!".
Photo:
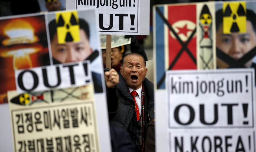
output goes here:
{"type": "Polygon", "coordinates": [[[168,151],[255,151],[253,69],[172,70],[166,80],[168,151]]]}

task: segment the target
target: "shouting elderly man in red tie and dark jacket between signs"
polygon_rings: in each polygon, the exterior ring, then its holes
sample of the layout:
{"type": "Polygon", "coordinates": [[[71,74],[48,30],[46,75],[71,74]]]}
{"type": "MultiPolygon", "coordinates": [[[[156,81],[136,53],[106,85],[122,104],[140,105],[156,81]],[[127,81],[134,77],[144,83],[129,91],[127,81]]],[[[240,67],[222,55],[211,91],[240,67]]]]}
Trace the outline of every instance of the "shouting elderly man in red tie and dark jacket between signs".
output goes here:
{"type": "Polygon", "coordinates": [[[146,61],[138,53],[124,56],[117,88],[118,112],[110,125],[125,128],[136,145],[144,151],[146,124],[154,119],[154,85],[147,78],[146,61]]]}

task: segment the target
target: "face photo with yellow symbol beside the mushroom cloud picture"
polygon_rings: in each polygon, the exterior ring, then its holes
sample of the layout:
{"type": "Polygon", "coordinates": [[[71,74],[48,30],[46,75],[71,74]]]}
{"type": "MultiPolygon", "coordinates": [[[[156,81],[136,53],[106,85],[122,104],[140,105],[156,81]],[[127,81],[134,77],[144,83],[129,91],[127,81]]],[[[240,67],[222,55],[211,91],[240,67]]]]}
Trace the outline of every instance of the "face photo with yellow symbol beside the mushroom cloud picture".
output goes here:
{"type": "Polygon", "coordinates": [[[53,64],[90,60],[95,93],[102,92],[103,63],[95,10],[61,11],[49,13],[47,18],[53,64]]]}

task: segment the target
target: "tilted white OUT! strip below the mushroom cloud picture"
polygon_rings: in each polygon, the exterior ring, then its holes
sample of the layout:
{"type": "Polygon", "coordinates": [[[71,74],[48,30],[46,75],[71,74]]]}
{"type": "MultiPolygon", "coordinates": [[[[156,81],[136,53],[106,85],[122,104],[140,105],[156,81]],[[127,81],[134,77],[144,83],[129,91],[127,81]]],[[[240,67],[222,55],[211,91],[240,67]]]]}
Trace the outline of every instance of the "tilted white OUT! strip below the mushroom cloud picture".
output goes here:
{"type": "Polygon", "coordinates": [[[72,64],[59,64],[15,71],[18,93],[69,88],[91,83],[88,60],[72,64]]]}

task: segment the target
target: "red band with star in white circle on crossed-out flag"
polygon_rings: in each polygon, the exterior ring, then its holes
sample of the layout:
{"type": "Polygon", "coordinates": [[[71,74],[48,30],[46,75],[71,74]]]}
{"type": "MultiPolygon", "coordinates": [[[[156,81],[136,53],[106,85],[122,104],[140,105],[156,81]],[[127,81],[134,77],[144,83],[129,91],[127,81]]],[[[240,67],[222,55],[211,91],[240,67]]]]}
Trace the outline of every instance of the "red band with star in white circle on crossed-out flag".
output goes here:
{"type": "MultiPolygon", "coordinates": [[[[186,43],[190,35],[196,28],[196,5],[169,6],[168,22],[178,34],[179,38],[186,43]]],[[[192,55],[196,58],[196,34],[187,45],[192,55]]],[[[182,45],[176,39],[174,34],[168,34],[169,38],[169,65],[175,60],[177,54],[182,49],[182,45]]],[[[191,57],[183,50],[182,55],[172,69],[197,69],[196,64],[191,57]]]]}

